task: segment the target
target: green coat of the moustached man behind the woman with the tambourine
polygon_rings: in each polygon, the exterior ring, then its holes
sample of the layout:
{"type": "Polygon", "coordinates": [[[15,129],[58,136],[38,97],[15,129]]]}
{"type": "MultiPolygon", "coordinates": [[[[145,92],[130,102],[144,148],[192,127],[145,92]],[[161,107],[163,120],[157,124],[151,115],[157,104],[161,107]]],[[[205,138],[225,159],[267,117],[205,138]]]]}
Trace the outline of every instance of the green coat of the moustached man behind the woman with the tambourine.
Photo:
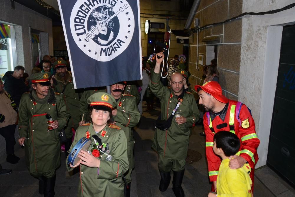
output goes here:
{"type": "MultiPolygon", "coordinates": [[[[88,114],[88,104],[87,99],[96,92],[106,92],[106,90],[88,90],[84,91],[80,100],[80,113],[86,114],[86,117],[89,117],[88,114]]],[[[140,112],[136,105],[136,99],[132,95],[122,95],[119,100],[117,100],[117,115],[114,116],[115,124],[121,127],[127,138],[128,142],[128,160],[129,168],[134,168],[134,139],[132,129],[137,125],[140,120],[140,112]]]]}

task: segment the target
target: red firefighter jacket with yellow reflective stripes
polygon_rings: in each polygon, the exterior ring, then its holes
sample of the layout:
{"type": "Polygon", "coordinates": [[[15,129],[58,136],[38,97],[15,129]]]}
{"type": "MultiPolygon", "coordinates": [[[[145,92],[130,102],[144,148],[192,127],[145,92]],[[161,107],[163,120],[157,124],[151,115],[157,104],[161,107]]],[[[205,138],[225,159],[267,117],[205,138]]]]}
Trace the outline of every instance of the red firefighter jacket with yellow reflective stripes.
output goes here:
{"type": "MultiPolygon", "coordinates": [[[[219,116],[216,116],[213,121],[207,113],[204,115],[204,129],[206,133],[206,157],[208,161],[208,171],[210,181],[216,181],[219,166],[221,164],[221,159],[213,152],[213,137],[214,134],[219,131],[231,131],[235,133],[240,139],[240,149],[238,154],[241,157],[245,158],[252,169],[256,165],[258,161],[257,147],[259,145],[259,139],[255,132],[255,123],[250,114],[249,109],[246,105],[242,105],[240,108],[240,122],[236,117],[237,111],[235,110],[235,106],[237,105],[237,101],[229,100],[228,108],[226,111],[226,115],[224,121],[219,116]],[[230,118],[232,116],[232,118],[230,118]],[[230,119],[232,121],[230,121],[230,119]],[[230,128],[230,123],[232,122],[234,125],[230,128]],[[212,126],[211,126],[212,123],[212,126]],[[226,124],[224,124],[226,123],[226,124]],[[220,126],[223,124],[222,126],[220,126]],[[225,126],[226,125],[226,126],[225,126]],[[224,127],[225,126],[225,127],[224,127]],[[212,128],[210,128],[212,127],[212,128]],[[220,128],[222,127],[222,128],[220,128]],[[233,131],[234,127],[234,131],[233,131]],[[214,133],[213,133],[214,132],[214,133]]],[[[212,113],[212,112],[209,112],[212,113]]]]}

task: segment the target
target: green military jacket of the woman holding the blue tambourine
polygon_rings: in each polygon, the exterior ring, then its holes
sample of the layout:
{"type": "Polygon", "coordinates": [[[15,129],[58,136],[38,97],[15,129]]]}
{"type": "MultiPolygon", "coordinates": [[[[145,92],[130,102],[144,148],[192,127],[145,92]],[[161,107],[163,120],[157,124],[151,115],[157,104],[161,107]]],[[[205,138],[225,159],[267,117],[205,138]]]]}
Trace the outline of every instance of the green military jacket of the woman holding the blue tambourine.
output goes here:
{"type": "MultiPolygon", "coordinates": [[[[113,159],[107,161],[107,156],[100,153],[100,157],[98,157],[101,160],[99,174],[97,167],[79,166],[78,196],[124,196],[122,175],[128,170],[128,156],[127,140],[123,130],[115,125],[107,125],[102,130],[106,131],[105,135],[101,135],[102,131],[96,133],[92,123],[83,124],[78,127],[70,150],[73,149],[81,138],[86,136],[87,131],[89,131],[90,136],[97,135],[102,143],[108,143],[109,154],[112,155],[113,159]]],[[[93,139],[91,143],[95,143],[93,139]]],[[[90,146],[88,151],[91,151],[91,149],[92,147],[90,146]]],[[[68,159],[66,159],[67,161],[68,159]]],[[[68,171],[73,170],[69,165],[67,165],[67,168],[68,171]]]]}

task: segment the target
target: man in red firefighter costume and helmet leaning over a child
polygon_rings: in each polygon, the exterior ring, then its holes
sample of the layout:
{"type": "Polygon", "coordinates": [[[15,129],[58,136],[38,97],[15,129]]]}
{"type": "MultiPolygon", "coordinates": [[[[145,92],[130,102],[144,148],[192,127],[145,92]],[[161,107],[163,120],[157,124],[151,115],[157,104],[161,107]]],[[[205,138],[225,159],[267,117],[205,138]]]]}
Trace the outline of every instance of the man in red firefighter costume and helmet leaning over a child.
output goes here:
{"type": "MultiPolygon", "coordinates": [[[[206,156],[208,161],[209,179],[216,191],[216,180],[221,159],[213,152],[213,137],[219,131],[235,133],[240,139],[240,149],[234,158],[230,158],[229,167],[238,169],[247,162],[252,168],[250,177],[254,184],[254,167],[258,161],[257,147],[259,139],[255,132],[255,123],[251,111],[241,102],[229,100],[222,95],[219,83],[215,81],[196,85],[199,94],[199,104],[207,111],[204,114],[204,129],[206,134],[206,156]]],[[[252,185],[253,190],[253,185],[252,185]]]]}

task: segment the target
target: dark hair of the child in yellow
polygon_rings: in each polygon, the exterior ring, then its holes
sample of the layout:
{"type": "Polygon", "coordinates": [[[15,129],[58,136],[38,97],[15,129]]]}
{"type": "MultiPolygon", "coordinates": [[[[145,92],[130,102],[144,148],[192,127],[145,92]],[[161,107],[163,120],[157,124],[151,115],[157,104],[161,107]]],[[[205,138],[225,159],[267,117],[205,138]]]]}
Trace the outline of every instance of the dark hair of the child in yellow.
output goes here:
{"type": "Polygon", "coordinates": [[[221,148],[224,155],[230,157],[235,155],[240,149],[240,139],[229,131],[219,131],[213,138],[216,147],[221,148]]]}

